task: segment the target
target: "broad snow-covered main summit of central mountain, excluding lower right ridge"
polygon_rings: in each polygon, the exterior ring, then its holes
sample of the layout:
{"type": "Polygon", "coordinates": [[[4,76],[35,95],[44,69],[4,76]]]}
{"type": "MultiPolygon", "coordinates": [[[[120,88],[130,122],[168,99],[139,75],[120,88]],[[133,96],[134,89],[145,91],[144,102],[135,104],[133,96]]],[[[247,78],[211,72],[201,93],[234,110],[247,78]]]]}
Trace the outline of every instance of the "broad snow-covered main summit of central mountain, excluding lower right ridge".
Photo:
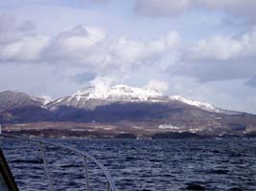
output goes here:
{"type": "Polygon", "coordinates": [[[55,109],[58,106],[72,106],[77,108],[95,108],[96,106],[124,102],[161,101],[163,95],[159,91],[149,88],[135,88],[127,85],[113,87],[86,87],[72,96],[58,98],[47,106],[55,109]]]}

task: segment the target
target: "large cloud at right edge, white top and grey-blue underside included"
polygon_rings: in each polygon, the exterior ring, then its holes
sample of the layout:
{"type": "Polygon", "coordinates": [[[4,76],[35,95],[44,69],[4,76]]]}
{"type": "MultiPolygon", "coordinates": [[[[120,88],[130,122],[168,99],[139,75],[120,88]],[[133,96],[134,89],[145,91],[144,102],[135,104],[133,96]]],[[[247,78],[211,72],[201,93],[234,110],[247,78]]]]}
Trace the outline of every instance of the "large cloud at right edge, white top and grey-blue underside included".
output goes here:
{"type": "Polygon", "coordinates": [[[201,81],[247,78],[256,74],[256,29],[239,36],[216,35],[188,44],[180,50],[170,74],[197,77],[201,81]]]}

